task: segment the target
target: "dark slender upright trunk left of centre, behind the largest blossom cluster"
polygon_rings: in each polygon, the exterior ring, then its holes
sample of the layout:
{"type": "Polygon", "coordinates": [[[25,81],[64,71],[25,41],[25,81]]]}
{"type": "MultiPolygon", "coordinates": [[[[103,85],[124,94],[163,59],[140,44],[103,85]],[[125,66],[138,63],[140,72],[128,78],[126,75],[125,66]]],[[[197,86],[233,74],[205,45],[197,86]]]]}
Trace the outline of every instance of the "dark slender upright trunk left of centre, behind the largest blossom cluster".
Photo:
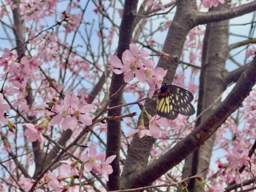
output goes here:
{"type": "MultiPolygon", "coordinates": [[[[135,16],[133,12],[137,11],[138,0],[126,0],[124,2],[123,16],[121,25],[119,27],[119,41],[117,48],[117,57],[122,59],[122,54],[126,49],[129,49],[129,44],[132,41],[132,34],[135,23],[135,16]]],[[[124,84],[123,74],[116,75],[113,73],[110,85],[110,96],[119,90],[124,84]]],[[[109,107],[117,106],[122,102],[123,92],[111,101],[109,107]]],[[[110,97],[111,98],[111,97],[110,97]]],[[[121,115],[122,108],[117,108],[108,111],[108,116],[121,115]]],[[[119,166],[119,151],[121,146],[121,122],[108,120],[107,121],[107,147],[106,157],[116,155],[116,158],[111,163],[113,167],[113,173],[109,175],[109,181],[107,182],[108,190],[118,190],[120,186],[120,166],[119,166]]]]}

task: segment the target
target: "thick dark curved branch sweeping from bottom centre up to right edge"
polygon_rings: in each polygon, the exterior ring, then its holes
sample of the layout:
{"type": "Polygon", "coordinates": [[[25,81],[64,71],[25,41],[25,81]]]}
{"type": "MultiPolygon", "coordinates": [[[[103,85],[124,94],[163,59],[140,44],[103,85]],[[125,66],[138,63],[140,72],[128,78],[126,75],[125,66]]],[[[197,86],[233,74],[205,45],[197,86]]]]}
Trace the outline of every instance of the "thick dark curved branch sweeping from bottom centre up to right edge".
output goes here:
{"type": "Polygon", "coordinates": [[[213,111],[213,113],[186,138],[178,142],[172,149],[167,151],[159,159],[145,169],[130,174],[135,187],[147,186],[157,180],[162,174],[179,164],[195,149],[203,144],[218,127],[233,113],[250,94],[256,82],[256,57],[241,74],[238,82],[225,100],[213,111]]]}

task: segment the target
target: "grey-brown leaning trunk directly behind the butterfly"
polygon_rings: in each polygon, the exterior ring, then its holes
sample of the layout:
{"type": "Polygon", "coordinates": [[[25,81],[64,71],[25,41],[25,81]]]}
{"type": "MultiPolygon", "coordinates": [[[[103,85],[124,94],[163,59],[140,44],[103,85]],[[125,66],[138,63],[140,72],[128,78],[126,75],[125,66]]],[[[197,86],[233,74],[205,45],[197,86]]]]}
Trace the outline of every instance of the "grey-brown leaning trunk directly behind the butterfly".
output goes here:
{"type": "MultiPolygon", "coordinates": [[[[158,67],[167,69],[167,74],[164,80],[167,84],[172,84],[186,36],[194,27],[196,18],[194,15],[195,10],[195,1],[182,0],[177,3],[177,11],[162,49],[165,53],[169,54],[170,57],[167,60],[161,57],[157,65],[158,67]]],[[[156,114],[156,103],[153,100],[146,101],[145,108],[152,116],[156,114]]],[[[146,127],[149,125],[146,116],[144,118],[144,125],[146,127]]],[[[147,166],[150,151],[154,142],[155,139],[152,137],[144,137],[140,139],[134,135],[132,142],[128,147],[128,155],[121,176],[121,188],[138,186],[138,183],[134,183],[133,180],[130,179],[131,175],[147,166]]]]}

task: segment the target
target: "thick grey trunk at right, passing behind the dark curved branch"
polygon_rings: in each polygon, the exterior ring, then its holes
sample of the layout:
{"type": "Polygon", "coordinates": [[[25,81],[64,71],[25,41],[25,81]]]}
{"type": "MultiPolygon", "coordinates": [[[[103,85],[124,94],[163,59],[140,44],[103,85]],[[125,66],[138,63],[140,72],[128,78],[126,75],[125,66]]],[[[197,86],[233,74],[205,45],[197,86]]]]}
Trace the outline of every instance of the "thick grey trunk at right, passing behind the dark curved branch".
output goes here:
{"type": "MultiPolygon", "coordinates": [[[[212,10],[226,10],[229,9],[227,4],[219,4],[218,7],[212,10]]],[[[221,21],[209,23],[207,25],[206,34],[204,37],[203,52],[202,52],[202,68],[199,87],[199,100],[197,115],[203,110],[212,105],[202,117],[198,119],[196,127],[205,121],[209,114],[218,107],[221,100],[217,102],[217,98],[225,90],[225,82],[223,81],[223,74],[225,70],[225,60],[228,56],[228,24],[229,21],[221,21]],[[222,26],[222,27],[220,27],[222,26]],[[214,103],[215,102],[215,103],[214,103]]],[[[183,167],[182,178],[188,175],[195,175],[199,170],[207,168],[210,164],[210,157],[212,154],[215,134],[212,135],[204,144],[188,156],[183,167]]],[[[206,178],[207,171],[201,174],[206,178]]],[[[188,190],[190,192],[202,190],[196,180],[191,180],[188,183],[188,190]]]]}

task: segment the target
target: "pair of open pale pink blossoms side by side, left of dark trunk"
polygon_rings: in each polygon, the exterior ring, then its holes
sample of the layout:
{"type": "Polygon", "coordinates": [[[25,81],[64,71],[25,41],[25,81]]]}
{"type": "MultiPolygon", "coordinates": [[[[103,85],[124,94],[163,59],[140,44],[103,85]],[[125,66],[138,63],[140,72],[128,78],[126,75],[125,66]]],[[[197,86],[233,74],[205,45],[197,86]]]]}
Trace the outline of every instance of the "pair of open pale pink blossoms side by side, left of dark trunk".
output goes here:
{"type": "Polygon", "coordinates": [[[52,107],[52,112],[55,116],[49,122],[49,125],[54,126],[62,122],[64,130],[74,130],[78,126],[78,121],[86,126],[92,124],[90,116],[85,113],[92,111],[94,105],[80,105],[79,98],[74,95],[66,95],[64,98],[64,108],[61,105],[55,104],[52,107]]]}

